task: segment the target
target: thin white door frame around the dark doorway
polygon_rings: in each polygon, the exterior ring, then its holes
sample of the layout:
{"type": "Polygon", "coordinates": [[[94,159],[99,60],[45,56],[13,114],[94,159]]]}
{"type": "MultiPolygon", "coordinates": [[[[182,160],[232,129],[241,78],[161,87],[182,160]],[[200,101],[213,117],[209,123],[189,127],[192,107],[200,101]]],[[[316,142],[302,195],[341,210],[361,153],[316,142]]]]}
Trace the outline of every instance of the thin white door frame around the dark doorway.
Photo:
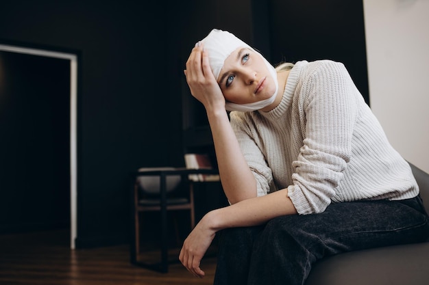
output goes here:
{"type": "Polygon", "coordinates": [[[76,53],[34,49],[15,44],[0,44],[0,51],[24,53],[70,60],[70,248],[77,238],[77,62],[76,53]]]}

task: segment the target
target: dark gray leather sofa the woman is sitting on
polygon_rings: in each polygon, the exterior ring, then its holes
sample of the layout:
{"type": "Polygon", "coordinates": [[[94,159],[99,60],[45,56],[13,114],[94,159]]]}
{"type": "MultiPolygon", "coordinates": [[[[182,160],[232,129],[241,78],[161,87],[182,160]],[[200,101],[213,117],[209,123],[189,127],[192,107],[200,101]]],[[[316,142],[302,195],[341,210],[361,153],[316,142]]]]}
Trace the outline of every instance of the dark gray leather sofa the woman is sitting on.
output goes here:
{"type": "MultiPolygon", "coordinates": [[[[429,174],[411,165],[429,211],[429,174]]],[[[306,285],[428,285],[429,243],[380,247],[324,258],[306,285]]]]}

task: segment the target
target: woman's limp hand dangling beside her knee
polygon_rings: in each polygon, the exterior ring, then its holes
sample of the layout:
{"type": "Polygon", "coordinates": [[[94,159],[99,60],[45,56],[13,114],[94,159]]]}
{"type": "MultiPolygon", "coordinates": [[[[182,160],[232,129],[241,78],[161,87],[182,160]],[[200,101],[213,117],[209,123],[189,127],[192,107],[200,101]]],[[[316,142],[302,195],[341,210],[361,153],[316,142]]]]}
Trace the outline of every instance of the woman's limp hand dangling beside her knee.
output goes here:
{"type": "Polygon", "coordinates": [[[179,260],[184,267],[188,269],[195,277],[202,278],[205,273],[199,267],[201,259],[213,239],[215,239],[215,230],[210,229],[210,213],[204,216],[201,221],[195,226],[191,234],[188,235],[180,250],[179,260]]]}

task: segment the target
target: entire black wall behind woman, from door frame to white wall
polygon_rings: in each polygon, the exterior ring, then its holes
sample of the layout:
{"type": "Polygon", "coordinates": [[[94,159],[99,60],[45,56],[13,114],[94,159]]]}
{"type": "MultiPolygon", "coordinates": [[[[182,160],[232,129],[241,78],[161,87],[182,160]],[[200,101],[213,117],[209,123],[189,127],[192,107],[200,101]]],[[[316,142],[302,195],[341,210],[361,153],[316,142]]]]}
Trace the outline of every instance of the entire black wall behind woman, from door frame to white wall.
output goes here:
{"type": "Polygon", "coordinates": [[[352,62],[359,68],[346,66],[365,85],[362,2],[296,2],[2,3],[1,42],[79,54],[79,246],[127,241],[128,174],[138,167],[182,166],[182,129],[203,128],[193,141],[210,141],[204,109],[189,94],[183,75],[193,45],[210,29],[236,33],[273,64],[283,59],[356,57],[352,62]],[[343,23],[353,29],[335,29],[343,23]]]}

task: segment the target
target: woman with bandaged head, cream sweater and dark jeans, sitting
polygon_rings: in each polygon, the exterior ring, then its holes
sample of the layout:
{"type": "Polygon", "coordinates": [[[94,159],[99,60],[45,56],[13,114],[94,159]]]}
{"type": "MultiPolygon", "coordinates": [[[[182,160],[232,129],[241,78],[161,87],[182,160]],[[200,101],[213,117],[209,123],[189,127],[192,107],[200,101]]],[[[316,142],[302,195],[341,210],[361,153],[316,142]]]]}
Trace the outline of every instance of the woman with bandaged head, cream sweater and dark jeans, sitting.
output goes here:
{"type": "Polygon", "coordinates": [[[179,258],[193,275],[204,276],[199,264],[219,231],[215,284],[234,285],[304,284],[324,256],[427,239],[410,166],[343,64],[275,70],[214,29],[184,72],[206,108],[230,202],[184,241],[179,258]]]}

